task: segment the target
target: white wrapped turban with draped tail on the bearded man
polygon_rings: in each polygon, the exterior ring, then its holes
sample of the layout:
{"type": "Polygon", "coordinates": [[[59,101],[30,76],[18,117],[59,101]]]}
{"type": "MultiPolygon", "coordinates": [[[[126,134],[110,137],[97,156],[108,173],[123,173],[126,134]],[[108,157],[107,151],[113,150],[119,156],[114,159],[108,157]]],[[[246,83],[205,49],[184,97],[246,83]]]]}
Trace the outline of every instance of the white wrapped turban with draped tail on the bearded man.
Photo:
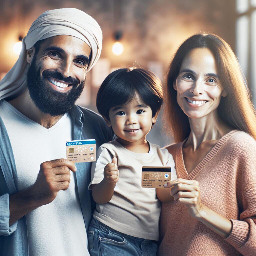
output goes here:
{"type": "Polygon", "coordinates": [[[25,91],[29,67],[27,50],[37,41],[57,35],[74,36],[86,42],[91,47],[91,61],[87,71],[95,65],[102,48],[102,31],[95,19],[75,8],[46,11],[29,28],[27,36],[22,40],[22,50],[17,62],[0,81],[0,100],[15,98],[25,91]]]}

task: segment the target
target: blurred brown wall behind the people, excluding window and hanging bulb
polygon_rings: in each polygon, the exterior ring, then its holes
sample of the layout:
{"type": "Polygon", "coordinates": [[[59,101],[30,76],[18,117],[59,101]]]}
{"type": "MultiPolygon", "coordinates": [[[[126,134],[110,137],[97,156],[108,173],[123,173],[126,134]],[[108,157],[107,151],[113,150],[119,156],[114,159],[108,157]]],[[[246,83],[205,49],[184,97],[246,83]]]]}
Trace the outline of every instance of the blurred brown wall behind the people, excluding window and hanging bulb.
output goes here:
{"type": "MultiPolygon", "coordinates": [[[[18,1],[2,0],[0,9],[0,73],[7,72],[18,56],[12,50],[19,35],[25,36],[32,22],[45,10],[75,7],[93,16],[103,31],[101,58],[110,68],[127,65],[158,68],[164,83],[164,72],[175,50],[187,37],[210,31],[225,39],[234,49],[235,1],[231,0],[87,0],[87,1],[18,1]],[[123,31],[120,40],[124,52],[119,57],[111,51],[113,33],[123,31]]],[[[88,73],[86,91],[79,100],[94,111],[97,86],[88,73]]],[[[172,142],[165,137],[161,117],[148,136],[161,146],[172,142]]]]}

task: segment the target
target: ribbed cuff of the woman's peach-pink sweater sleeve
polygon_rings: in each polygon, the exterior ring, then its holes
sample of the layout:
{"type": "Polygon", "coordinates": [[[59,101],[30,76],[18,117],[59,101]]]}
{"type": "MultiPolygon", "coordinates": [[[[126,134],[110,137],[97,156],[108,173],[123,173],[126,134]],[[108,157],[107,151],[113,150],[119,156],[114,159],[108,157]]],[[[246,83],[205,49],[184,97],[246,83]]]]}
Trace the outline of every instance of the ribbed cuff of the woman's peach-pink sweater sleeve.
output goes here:
{"type": "Polygon", "coordinates": [[[235,248],[241,248],[248,240],[250,226],[246,221],[232,220],[232,231],[230,235],[224,239],[235,248]]]}

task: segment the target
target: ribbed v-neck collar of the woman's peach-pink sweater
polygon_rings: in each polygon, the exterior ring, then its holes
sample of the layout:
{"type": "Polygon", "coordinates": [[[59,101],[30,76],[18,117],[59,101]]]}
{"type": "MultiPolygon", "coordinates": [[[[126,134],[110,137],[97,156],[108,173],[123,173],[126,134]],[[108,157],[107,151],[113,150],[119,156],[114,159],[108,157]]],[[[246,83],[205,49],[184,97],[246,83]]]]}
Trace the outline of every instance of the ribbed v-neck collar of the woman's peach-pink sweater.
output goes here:
{"type": "Polygon", "coordinates": [[[220,150],[221,146],[228,140],[228,138],[237,132],[239,132],[239,130],[232,130],[224,135],[222,138],[220,138],[216,145],[210,150],[210,152],[202,159],[202,161],[190,174],[188,174],[186,170],[182,153],[183,145],[185,144],[187,139],[181,142],[178,145],[176,154],[176,171],[179,174],[180,178],[190,180],[194,179],[195,176],[201,171],[201,169],[204,168],[204,166],[216,155],[216,153],[220,150]]]}

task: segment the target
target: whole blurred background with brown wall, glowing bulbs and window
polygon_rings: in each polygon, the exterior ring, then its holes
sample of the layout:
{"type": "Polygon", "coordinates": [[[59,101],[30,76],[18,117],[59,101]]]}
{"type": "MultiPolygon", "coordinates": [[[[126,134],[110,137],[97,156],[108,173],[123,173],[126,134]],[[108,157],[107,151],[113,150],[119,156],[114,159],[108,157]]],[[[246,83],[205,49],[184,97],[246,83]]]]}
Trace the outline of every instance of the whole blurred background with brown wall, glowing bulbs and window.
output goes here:
{"type": "MultiPolygon", "coordinates": [[[[74,7],[97,20],[103,32],[101,58],[87,73],[77,104],[97,112],[98,88],[116,68],[142,66],[164,84],[178,46],[204,31],[228,42],[256,98],[256,0],[1,0],[1,6],[0,80],[18,59],[20,40],[41,13],[74,7]]],[[[162,115],[147,139],[161,146],[173,142],[166,135],[162,115]]]]}

